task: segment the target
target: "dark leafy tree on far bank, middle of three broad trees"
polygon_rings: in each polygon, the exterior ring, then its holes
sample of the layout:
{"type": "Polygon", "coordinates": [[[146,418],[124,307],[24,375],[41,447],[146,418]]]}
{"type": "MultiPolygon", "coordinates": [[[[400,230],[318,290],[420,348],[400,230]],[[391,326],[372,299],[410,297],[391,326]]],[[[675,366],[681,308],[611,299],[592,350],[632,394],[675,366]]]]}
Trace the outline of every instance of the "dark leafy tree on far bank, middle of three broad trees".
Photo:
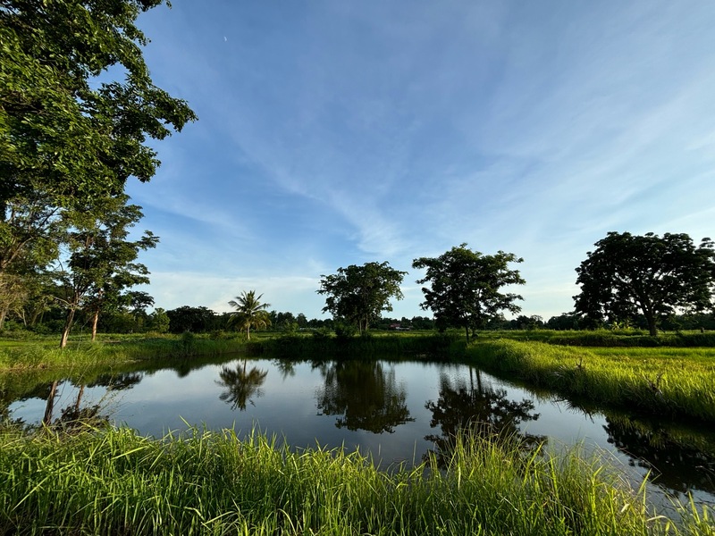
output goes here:
{"type": "Polygon", "coordinates": [[[426,271],[417,283],[430,283],[422,289],[425,301],[421,306],[433,312],[438,327],[464,328],[468,340],[470,330],[500,318],[502,311],[521,311],[514,302],[523,297],[500,292],[502,287],[526,282],[518,270],[509,268],[509,263],[521,262],[523,259],[514,254],[500,251],[483,255],[467,244],[452,247],[438,257],[415,259],[413,268],[426,271]]]}

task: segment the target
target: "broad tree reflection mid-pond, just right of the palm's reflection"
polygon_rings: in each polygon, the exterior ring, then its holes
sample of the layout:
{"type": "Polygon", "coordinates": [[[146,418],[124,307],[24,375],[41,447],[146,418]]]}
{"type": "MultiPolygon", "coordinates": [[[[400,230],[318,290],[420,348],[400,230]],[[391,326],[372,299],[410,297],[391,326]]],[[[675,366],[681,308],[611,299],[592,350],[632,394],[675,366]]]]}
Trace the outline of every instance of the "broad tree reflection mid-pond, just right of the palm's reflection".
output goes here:
{"type": "Polygon", "coordinates": [[[414,421],[406,403],[407,391],[395,381],[395,371],[381,362],[340,361],[321,368],[324,387],[316,394],[324,415],[341,415],[338,428],[392,433],[414,421]]]}

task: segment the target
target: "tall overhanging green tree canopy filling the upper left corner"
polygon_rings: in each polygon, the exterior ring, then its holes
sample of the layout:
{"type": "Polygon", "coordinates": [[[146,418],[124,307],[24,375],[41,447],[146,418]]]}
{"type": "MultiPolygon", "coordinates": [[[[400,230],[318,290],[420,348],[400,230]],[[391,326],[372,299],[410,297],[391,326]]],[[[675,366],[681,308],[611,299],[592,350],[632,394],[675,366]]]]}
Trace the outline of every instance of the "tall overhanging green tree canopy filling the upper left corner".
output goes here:
{"type": "Polygon", "coordinates": [[[122,195],[148,139],[196,116],[157,88],[140,13],[164,0],[0,0],[0,276],[42,255],[64,210],[122,195]]]}

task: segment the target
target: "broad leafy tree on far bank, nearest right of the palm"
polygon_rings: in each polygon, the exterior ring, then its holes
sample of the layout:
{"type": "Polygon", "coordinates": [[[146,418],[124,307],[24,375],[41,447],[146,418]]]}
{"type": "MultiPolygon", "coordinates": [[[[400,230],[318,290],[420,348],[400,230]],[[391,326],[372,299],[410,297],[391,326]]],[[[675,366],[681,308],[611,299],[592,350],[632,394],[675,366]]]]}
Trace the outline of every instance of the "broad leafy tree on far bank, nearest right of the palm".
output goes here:
{"type": "Polygon", "coordinates": [[[338,273],[321,275],[318,294],[324,294],[323,312],[355,324],[362,333],[370,322],[380,318],[383,311],[391,311],[390,299],[402,299],[400,283],[407,272],[400,272],[385,261],[350,264],[338,268],[338,273]]]}

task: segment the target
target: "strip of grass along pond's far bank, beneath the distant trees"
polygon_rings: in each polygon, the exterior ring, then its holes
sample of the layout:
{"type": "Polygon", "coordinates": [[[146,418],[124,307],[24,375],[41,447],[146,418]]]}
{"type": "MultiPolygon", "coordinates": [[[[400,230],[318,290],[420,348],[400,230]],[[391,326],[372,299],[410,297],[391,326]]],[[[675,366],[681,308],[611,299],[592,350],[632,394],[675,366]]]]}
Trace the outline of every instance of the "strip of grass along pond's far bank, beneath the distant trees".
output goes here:
{"type": "MultiPolygon", "coordinates": [[[[68,348],[57,348],[56,337],[29,336],[0,339],[0,369],[67,368],[87,364],[118,364],[187,356],[226,353],[269,355],[293,359],[314,356],[406,356],[416,359],[460,359],[464,353],[461,332],[371,331],[349,338],[321,331],[296,334],[258,332],[250,340],[236,333],[195,335],[100,335],[96,342],[87,335],[71,340],[68,348]]],[[[585,348],[715,348],[715,334],[706,332],[668,333],[650,337],[641,331],[481,331],[477,340],[512,339],[543,342],[552,346],[585,348]]]]}

